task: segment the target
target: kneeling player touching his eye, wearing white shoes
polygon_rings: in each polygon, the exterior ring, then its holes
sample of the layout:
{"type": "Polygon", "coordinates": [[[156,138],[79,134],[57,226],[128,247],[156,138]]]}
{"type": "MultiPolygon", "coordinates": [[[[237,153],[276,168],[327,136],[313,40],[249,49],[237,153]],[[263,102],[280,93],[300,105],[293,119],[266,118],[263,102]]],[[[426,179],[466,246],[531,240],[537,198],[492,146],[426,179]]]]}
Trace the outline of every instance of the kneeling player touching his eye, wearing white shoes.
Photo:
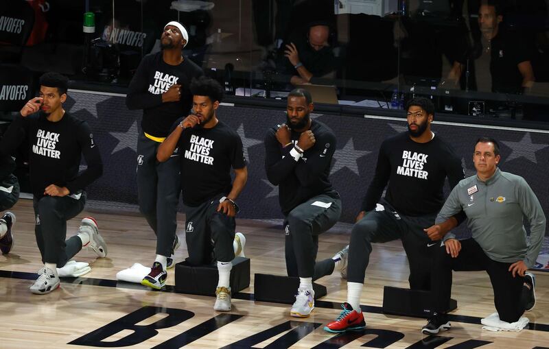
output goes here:
{"type": "Polygon", "coordinates": [[[103,172],[100,152],[86,121],[76,119],[62,107],[67,99],[67,77],[45,73],[40,77],[40,97],[27,101],[5,133],[0,149],[11,154],[21,141],[29,139],[29,171],[36,243],[44,267],[30,287],[45,294],[60,285],[57,269],[63,267],[82,247],[97,256],[107,254],[105,241],[91,217],[82,219],[78,234],[67,239],[67,221],[78,215],[86,202],[86,186],[103,172]],[[38,110],[40,110],[38,112],[38,110]],[[87,168],[81,173],[80,158],[87,168]]]}

